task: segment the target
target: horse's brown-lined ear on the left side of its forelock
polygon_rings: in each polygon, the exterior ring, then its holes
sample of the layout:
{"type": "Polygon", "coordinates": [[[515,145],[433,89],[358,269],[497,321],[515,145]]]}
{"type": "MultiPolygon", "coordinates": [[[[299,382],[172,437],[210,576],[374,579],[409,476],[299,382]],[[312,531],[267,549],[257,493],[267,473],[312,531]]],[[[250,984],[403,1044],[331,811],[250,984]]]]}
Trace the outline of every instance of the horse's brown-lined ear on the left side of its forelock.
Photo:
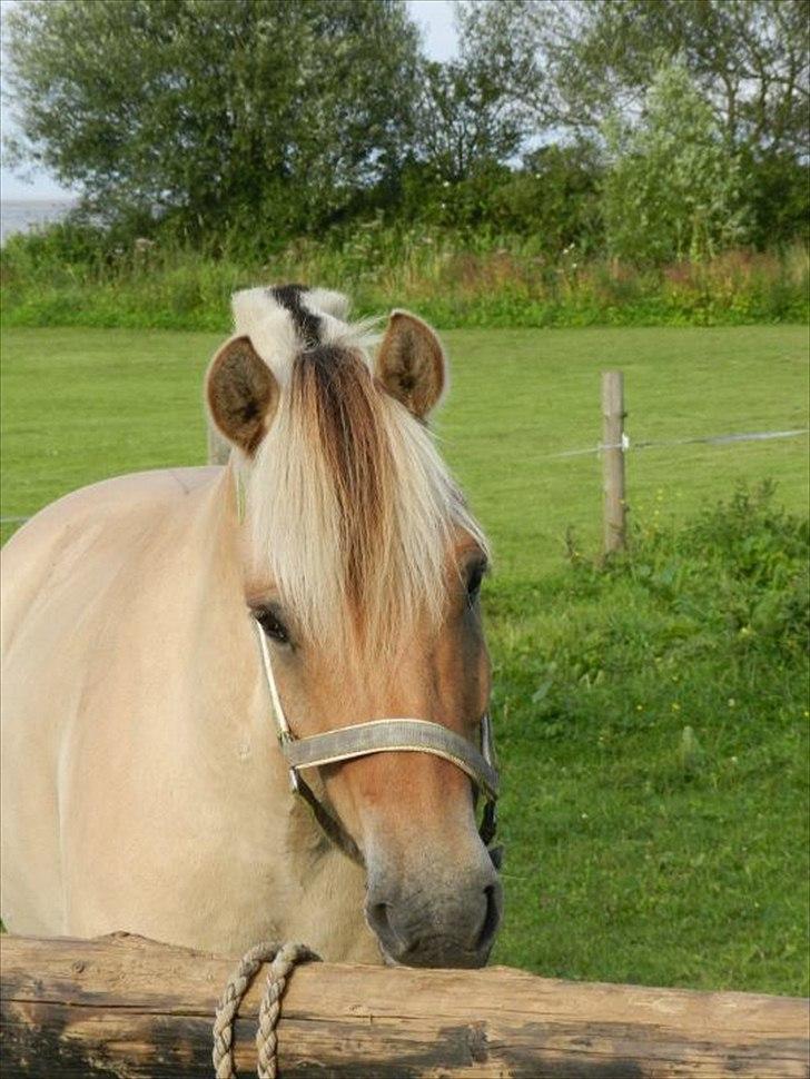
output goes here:
{"type": "Polygon", "coordinates": [[[278,405],[278,383],[249,337],[227,341],[206,378],[211,419],[228,442],[255,453],[278,405]]]}

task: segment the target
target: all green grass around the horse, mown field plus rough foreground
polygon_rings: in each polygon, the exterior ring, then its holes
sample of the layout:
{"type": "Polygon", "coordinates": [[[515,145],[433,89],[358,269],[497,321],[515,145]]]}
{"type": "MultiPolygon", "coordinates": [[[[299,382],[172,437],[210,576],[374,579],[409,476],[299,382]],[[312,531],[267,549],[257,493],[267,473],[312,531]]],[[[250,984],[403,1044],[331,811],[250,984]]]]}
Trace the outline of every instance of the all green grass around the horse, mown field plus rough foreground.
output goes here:
{"type": "MultiPolygon", "coordinates": [[[[507,903],[495,959],[807,992],[807,438],[631,453],[634,553],[608,570],[592,562],[599,461],[551,456],[597,442],[599,373],[613,366],[635,442],[803,427],[806,330],[445,337],[439,436],[496,552],[485,607],[507,903]],[[733,496],[767,477],[776,497],[733,496]]],[[[7,330],[2,514],[199,462],[217,340],[7,330]]]]}

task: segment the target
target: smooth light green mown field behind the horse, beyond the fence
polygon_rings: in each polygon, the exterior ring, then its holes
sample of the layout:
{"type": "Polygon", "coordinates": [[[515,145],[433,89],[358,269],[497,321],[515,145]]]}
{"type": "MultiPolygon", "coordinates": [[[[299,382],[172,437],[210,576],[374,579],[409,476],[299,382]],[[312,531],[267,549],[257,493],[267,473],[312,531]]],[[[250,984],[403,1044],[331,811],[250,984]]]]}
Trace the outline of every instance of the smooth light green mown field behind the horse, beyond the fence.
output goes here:
{"type": "MultiPolygon", "coordinates": [[[[733,327],[452,330],[446,457],[494,542],[498,575],[559,566],[572,525],[600,533],[600,372],[625,373],[633,442],[807,426],[807,330],[733,327]]],[[[220,337],[8,329],[2,336],[2,515],[105,476],[205,454],[201,379],[220,337]]],[[[629,461],[633,514],[683,515],[738,479],[774,476],[802,504],[807,442],[651,448],[629,461]]],[[[3,536],[6,538],[6,536],[3,536]]]]}

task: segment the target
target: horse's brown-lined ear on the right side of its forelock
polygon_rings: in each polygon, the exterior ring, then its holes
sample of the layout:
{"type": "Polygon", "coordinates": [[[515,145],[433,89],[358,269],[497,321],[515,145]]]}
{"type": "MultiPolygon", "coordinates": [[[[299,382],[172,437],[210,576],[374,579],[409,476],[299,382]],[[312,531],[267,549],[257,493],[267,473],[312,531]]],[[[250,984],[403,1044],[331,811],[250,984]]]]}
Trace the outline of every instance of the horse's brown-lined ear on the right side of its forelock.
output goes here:
{"type": "Polygon", "coordinates": [[[427,323],[392,311],[377,354],[377,378],[418,419],[435,408],[447,385],[444,352],[427,323]]]}

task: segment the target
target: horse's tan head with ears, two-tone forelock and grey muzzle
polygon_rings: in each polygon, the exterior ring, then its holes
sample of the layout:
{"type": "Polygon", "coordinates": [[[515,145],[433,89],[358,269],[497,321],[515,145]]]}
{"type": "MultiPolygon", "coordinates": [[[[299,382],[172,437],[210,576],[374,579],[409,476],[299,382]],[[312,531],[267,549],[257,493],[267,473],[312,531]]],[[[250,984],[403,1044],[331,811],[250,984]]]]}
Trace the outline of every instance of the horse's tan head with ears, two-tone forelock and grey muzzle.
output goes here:
{"type": "MultiPolygon", "coordinates": [[[[237,294],[236,334],[208,370],[209,412],[234,447],[246,617],[290,738],[396,716],[474,746],[490,695],[488,554],[428,428],[444,353],[406,311],[378,340],[346,308],[303,286],[237,294]]],[[[365,865],[385,958],[481,966],[502,900],[475,769],[435,739],[397,749],[335,754],[307,790],[365,865]]]]}

